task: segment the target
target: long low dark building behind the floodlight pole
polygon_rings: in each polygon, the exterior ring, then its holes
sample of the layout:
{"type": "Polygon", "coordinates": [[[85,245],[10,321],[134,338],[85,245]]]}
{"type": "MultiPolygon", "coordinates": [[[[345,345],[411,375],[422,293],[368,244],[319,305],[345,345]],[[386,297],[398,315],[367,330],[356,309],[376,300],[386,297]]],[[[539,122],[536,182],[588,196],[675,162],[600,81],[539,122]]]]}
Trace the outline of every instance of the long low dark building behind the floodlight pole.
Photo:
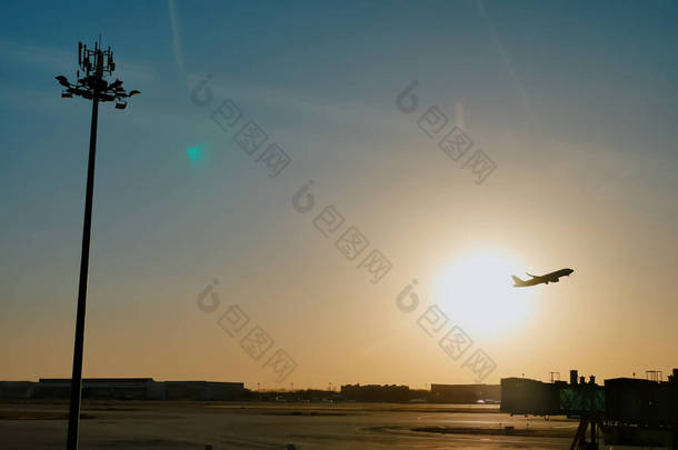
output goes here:
{"type": "MultiPolygon", "coordinates": [[[[71,380],[41,378],[0,381],[0,399],[69,399],[71,380]]],[[[92,400],[240,400],[247,397],[241,382],[154,381],[152,378],[86,378],[82,398],[92,400]]]]}

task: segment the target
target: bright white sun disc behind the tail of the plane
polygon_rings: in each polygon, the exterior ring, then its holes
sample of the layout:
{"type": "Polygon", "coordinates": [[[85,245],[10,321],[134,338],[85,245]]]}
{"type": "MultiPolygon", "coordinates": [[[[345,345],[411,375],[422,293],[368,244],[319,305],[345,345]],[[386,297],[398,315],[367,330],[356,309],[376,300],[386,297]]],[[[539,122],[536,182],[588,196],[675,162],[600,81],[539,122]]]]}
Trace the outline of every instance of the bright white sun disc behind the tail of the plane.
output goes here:
{"type": "Polygon", "coordinates": [[[515,331],[532,312],[530,288],[514,288],[525,268],[497,251],[469,251],[443,269],[436,297],[469,334],[515,331]]]}

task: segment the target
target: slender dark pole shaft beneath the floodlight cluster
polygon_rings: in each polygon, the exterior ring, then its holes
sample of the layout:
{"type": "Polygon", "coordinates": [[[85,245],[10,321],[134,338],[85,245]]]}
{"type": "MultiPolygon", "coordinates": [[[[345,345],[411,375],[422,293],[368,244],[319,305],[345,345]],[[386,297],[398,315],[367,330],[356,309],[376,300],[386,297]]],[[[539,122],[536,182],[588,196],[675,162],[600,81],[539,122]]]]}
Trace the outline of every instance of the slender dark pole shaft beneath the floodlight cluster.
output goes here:
{"type": "Polygon", "coordinates": [[[78,450],[80,426],[80,401],[82,392],[82,351],[84,344],[84,309],[87,304],[87,276],[92,228],[92,199],[94,194],[94,161],[97,158],[97,119],[99,116],[99,90],[92,98],[92,123],[89,138],[89,162],[87,166],[87,192],[84,198],[84,222],[82,224],[82,252],[80,253],[80,283],[78,287],[78,316],[76,319],[76,344],[73,349],[73,374],[71,378],[71,402],[68,414],[68,450],[78,450]]]}

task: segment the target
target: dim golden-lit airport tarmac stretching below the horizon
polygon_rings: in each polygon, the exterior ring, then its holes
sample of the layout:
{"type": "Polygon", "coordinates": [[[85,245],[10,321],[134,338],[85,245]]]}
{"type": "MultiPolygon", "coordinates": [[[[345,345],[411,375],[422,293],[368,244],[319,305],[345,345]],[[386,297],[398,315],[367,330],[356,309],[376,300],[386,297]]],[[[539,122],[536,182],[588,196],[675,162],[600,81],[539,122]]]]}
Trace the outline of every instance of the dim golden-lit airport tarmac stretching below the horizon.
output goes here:
{"type": "MultiPolygon", "coordinates": [[[[67,411],[0,403],[0,448],[62,449],[67,411]]],[[[496,406],[98,401],[83,416],[81,449],[567,449],[577,429],[496,406]]]]}

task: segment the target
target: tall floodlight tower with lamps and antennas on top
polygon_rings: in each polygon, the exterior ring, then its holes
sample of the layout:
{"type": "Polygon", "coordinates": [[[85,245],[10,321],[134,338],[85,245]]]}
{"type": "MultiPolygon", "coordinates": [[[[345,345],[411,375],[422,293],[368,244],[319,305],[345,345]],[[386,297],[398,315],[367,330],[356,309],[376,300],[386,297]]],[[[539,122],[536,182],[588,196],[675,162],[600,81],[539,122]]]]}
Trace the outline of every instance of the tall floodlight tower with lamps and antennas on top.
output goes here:
{"type": "Polygon", "coordinates": [[[116,109],[124,109],[127,99],[140,93],[122,89],[122,81],[108,82],[106,76],[112,76],[116,70],[113,52],[109,47],[101,49],[101,39],[94,43],[94,49],[88,49],[78,42],[78,64],[83,72],[78,81],[70,83],[66,77],[58,76],[59,84],[66,89],[61,97],[70,99],[73,96],[92,101],[92,122],[89,139],[89,161],[87,166],[87,191],[84,197],[84,222],[82,224],[82,252],[80,254],[80,281],[78,286],[78,312],[76,317],[76,342],[73,348],[73,374],[71,378],[71,401],[68,416],[68,450],[78,449],[78,427],[80,424],[80,400],[82,391],[82,350],[84,342],[84,310],[87,303],[87,276],[89,270],[90,231],[92,224],[92,197],[94,191],[94,159],[97,156],[97,119],[99,102],[116,101],[116,109]]]}

